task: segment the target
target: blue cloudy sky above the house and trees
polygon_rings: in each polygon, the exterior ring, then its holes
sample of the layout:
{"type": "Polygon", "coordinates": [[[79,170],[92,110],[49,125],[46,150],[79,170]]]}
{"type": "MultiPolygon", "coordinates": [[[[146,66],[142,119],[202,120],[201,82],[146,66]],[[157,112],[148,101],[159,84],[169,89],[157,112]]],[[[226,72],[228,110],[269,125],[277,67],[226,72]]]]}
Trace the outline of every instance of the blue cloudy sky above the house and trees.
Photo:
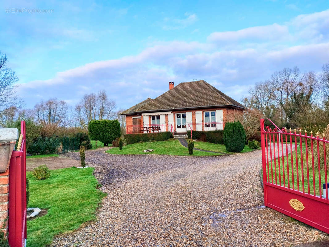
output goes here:
{"type": "Polygon", "coordinates": [[[193,80],[240,101],[274,71],[329,63],[328,0],[0,2],[26,108],[104,89],[126,109],[193,80]]]}

